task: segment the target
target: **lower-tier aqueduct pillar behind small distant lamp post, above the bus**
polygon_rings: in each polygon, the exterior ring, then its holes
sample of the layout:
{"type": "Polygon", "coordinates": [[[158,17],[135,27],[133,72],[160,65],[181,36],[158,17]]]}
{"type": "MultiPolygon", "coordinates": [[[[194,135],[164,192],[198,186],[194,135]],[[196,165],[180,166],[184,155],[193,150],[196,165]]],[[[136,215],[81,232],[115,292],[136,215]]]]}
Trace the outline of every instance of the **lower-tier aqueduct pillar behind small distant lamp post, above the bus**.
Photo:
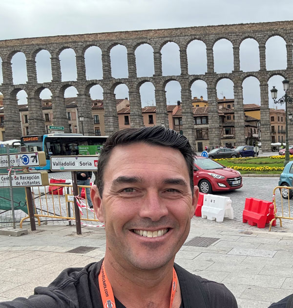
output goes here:
{"type": "Polygon", "coordinates": [[[91,113],[92,102],[90,96],[86,94],[78,94],[77,98],[78,116],[84,117],[83,124],[78,120],[79,131],[82,132],[84,127],[84,136],[94,136],[94,120],[91,113]]]}

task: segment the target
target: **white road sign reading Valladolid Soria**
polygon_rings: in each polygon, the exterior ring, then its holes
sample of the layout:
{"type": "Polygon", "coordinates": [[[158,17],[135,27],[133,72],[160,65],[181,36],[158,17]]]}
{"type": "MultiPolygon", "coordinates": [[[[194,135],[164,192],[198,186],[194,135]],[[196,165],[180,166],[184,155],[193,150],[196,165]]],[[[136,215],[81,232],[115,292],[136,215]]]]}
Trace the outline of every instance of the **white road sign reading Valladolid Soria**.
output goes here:
{"type": "Polygon", "coordinates": [[[52,171],[96,171],[98,155],[88,156],[51,156],[52,171]]]}

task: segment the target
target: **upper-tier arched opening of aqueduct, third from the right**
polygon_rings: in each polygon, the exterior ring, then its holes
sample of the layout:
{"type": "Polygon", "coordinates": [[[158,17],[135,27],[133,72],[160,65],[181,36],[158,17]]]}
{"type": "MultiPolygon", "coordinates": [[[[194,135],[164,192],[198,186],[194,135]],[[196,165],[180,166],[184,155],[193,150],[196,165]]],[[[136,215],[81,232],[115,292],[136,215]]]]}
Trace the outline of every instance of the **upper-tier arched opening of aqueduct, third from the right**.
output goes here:
{"type": "Polygon", "coordinates": [[[217,41],[213,48],[214,71],[230,73],[234,69],[233,45],[227,39],[217,41]]]}

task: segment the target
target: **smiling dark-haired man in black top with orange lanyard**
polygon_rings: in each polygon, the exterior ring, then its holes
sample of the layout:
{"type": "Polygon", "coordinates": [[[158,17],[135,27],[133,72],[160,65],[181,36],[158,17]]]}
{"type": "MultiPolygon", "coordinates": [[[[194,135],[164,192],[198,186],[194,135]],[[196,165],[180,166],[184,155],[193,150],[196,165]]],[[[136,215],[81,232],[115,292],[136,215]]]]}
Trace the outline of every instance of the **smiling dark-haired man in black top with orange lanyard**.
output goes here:
{"type": "Polygon", "coordinates": [[[0,307],[236,308],[223,285],[174,264],[198,198],[188,140],[164,127],[107,139],[91,190],[105,223],[105,259],[64,270],[34,296],[0,307]]]}

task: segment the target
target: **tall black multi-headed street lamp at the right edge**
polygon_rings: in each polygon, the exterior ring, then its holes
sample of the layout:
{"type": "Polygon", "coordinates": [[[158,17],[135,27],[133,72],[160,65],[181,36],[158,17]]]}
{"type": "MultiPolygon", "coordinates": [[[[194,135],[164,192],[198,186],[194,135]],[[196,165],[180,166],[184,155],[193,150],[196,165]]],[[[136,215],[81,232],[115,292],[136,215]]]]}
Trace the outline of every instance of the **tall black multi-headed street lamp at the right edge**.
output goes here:
{"type": "Polygon", "coordinates": [[[286,119],[286,150],[285,150],[285,162],[284,162],[284,167],[289,163],[290,161],[290,153],[289,153],[289,141],[288,141],[288,118],[290,119],[290,121],[292,120],[292,113],[288,113],[287,110],[287,103],[292,104],[293,103],[293,98],[287,95],[287,91],[289,89],[289,80],[288,79],[284,79],[282,81],[283,83],[283,87],[284,87],[284,91],[285,91],[285,95],[283,97],[281,97],[280,99],[277,99],[277,92],[278,90],[275,87],[272,87],[271,90],[271,94],[272,94],[272,99],[273,102],[275,104],[284,104],[285,103],[285,119],[286,119]]]}

